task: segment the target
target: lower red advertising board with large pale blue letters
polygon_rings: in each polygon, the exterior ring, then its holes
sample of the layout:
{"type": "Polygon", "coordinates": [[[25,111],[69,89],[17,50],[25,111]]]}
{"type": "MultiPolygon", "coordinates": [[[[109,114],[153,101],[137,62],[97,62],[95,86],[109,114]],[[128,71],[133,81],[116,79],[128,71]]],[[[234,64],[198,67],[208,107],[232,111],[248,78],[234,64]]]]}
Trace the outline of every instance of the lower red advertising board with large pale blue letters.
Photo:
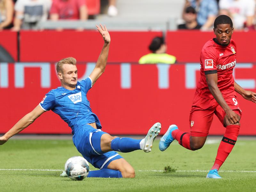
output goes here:
{"type": "MultiPolygon", "coordinates": [[[[189,111],[199,79],[197,63],[138,65],[108,63],[105,73],[88,92],[92,111],[103,130],[110,134],[145,134],[155,122],[162,133],[170,124],[189,131],[189,111]]],[[[78,64],[78,77],[84,78],[92,63],[78,64]]],[[[53,63],[15,63],[5,66],[8,82],[1,82],[1,133],[38,105],[44,95],[60,86],[53,63]]],[[[3,69],[3,66],[1,66],[3,69]]],[[[237,83],[256,91],[256,65],[236,64],[237,83]]],[[[2,73],[3,74],[3,73],[2,73]]],[[[6,77],[1,77],[5,79],[6,77]]],[[[241,135],[256,135],[256,104],[238,96],[243,116],[241,135]]],[[[225,128],[214,118],[210,134],[223,134],[225,128]]],[[[70,133],[70,128],[52,111],[45,112],[22,133],[70,133]]]]}

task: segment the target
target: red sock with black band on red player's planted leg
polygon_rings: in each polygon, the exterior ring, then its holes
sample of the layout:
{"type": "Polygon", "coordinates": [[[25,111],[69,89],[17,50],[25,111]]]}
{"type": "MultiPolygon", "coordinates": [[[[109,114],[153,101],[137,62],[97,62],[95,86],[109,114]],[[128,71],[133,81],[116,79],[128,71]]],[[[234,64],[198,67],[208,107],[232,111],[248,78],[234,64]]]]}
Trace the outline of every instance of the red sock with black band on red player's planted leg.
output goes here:
{"type": "Polygon", "coordinates": [[[224,163],[236,143],[239,128],[240,125],[228,125],[226,127],[226,132],[223,139],[220,141],[220,146],[212,169],[217,169],[219,171],[220,166],[224,163]]]}

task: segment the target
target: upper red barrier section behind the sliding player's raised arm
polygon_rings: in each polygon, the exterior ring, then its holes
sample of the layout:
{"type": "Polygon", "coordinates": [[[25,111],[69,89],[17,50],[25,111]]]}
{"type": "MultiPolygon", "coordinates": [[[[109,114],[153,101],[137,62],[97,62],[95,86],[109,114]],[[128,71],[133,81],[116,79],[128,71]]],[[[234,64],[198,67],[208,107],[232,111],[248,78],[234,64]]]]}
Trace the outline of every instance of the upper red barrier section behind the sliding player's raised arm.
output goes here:
{"type": "MultiPolygon", "coordinates": [[[[104,24],[104,23],[103,23],[104,24]]],[[[138,62],[148,45],[162,32],[110,32],[109,62],[138,62]]],[[[75,57],[77,61],[97,61],[103,40],[98,31],[21,31],[20,61],[58,61],[75,57]]]]}

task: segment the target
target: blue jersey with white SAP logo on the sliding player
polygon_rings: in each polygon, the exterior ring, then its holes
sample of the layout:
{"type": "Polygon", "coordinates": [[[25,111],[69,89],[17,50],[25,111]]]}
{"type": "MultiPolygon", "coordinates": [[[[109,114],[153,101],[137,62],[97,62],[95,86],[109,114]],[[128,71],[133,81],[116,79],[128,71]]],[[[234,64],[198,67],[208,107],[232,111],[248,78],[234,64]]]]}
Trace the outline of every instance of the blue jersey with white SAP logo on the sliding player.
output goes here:
{"type": "Polygon", "coordinates": [[[44,111],[52,110],[63,119],[72,129],[72,134],[76,128],[88,123],[96,123],[97,129],[101,129],[100,120],[92,113],[90,102],[86,94],[92,87],[90,77],[77,82],[76,89],[68,90],[58,87],[48,92],[39,105],[44,111]]]}

